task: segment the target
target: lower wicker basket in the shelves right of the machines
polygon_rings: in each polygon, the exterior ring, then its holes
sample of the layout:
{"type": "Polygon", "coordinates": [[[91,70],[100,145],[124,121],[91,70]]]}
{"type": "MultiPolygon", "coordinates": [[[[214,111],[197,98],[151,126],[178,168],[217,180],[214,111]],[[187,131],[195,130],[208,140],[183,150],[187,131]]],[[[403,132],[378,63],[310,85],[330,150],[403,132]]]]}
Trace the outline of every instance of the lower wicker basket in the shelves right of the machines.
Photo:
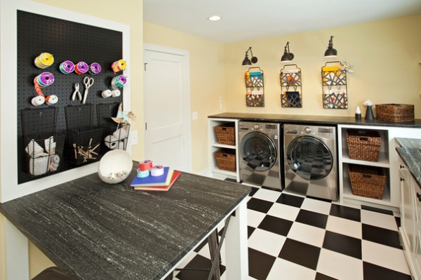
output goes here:
{"type": "Polygon", "coordinates": [[[349,164],[352,194],[382,199],[386,183],[385,169],[375,166],[349,164]]]}

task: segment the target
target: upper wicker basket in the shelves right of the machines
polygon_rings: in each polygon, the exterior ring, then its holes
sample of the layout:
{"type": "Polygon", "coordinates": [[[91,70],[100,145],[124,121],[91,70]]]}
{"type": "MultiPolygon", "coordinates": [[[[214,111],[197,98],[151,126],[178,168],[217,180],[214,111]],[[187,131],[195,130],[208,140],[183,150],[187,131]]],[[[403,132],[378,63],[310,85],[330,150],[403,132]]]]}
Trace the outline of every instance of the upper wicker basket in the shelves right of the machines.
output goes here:
{"type": "Polygon", "coordinates": [[[347,130],[349,159],[378,161],[382,138],[377,131],[347,130]]]}

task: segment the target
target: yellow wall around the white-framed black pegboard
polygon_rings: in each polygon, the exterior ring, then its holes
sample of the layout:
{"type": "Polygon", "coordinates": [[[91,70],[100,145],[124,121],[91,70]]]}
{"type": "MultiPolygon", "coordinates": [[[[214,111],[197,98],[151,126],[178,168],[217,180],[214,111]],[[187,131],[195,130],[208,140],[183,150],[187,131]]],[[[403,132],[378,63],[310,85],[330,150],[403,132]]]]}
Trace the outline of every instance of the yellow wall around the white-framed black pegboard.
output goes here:
{"type": "MultiPolygon", "coordinates": [[[[36,0],[36,2],[63,8],[77,13],[92,15],[97,18],[104,18],[114,22],[121,22],[130,25],[131,28],[131,110],[138,116],[132,121],[132,130],[140,130],[142,127],[142,92],[143,92],[143,1],[123,0],[118,4],[112,1],[102,0],[36,0]],[[129,8],[125,8],[129,7],[129,8]]],[[[77,20],[77,19],[75,19],[77,20]]],[[[1,93],[4,94],[4,93],[1,93]]],[[[139,138],[142,139],[142,138],[139,138]]],[[[133,159],[140,160],[143,157],[143,143],[132,147],[133,159]]],[[[6,280],[6,267],[4,260],[4,217],[0,215],[0,280],[6,280]]],[[[51,266],[51,260],[39,251],[36,246],[29,244],[29,276],[32,278],[43,269],[51,266]]],[[[7,279],[13,280],[13,279],[7,279]]]]}

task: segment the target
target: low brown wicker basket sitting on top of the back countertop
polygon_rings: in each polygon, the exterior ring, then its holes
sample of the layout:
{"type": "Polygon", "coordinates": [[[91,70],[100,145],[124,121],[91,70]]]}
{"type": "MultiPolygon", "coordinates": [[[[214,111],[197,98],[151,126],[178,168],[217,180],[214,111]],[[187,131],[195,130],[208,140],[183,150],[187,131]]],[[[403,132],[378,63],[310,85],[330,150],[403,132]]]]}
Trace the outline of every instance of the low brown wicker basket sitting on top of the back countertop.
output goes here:
{"type": "Polygon", "coordinates": [[[403,123],[414,121],[414,105],[406,104],[376,104],[377,120],[403,123]]]}

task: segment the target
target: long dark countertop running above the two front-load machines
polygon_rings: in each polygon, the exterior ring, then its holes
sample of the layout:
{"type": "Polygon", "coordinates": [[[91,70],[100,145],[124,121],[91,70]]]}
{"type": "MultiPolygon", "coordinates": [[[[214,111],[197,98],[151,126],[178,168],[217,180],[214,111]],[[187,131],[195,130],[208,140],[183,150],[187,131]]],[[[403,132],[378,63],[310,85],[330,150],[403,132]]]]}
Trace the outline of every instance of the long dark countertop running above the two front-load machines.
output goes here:
{"type": "Polygon", "coordinates": [[[220,119],[241,119],[244,121],[264,121],[264,122],[280,122],[293,124],[349,124],[363,126],[396,126],[408,128],[421,128],[421,119],[415,119],[409,123],[391,123],[388,121],[366,121],[364,118],[356,120],[351,116],[308,116],[308,115],[292,115],[292,114],[250,114],[250,113],[221,113],[208,116],[209,118],[220,119]]]}

